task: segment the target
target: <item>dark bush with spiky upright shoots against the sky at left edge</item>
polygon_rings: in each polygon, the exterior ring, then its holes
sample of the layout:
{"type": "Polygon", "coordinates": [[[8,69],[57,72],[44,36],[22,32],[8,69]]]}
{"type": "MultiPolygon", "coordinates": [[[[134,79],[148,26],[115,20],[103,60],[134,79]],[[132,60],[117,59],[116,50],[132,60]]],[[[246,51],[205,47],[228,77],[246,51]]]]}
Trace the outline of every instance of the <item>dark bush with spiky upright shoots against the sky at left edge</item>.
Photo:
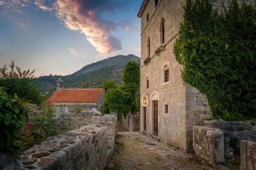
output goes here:
{"type": "Polygon", "coordinates": [[[38,81],[33,81],[33,73],[35,70],[24,70],[21,72],[20,68],[16,66],[17,72],[14,71],[14,62],[10,65],[11,71],[6,65],[0,68],[0,86],[6,87],[6,93],[14,96],[16,93],[19,98],[24,98],[33,104],[42,104],[47,96],[41,95],[38,81]]]}

